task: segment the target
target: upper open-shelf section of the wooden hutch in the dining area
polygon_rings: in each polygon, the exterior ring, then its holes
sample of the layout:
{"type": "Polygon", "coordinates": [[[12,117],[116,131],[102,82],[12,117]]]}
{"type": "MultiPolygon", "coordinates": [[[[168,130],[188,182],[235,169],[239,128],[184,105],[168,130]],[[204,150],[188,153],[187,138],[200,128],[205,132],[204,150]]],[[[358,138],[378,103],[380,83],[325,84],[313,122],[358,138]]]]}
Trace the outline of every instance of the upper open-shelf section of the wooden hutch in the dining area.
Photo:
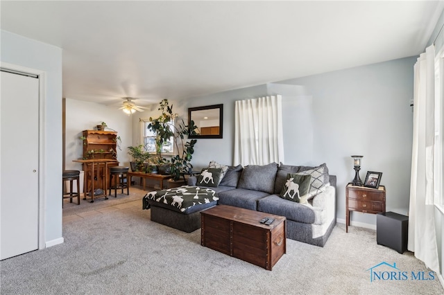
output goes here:
{"type": "Polygon", "coordinates": [[[117,132],[84,130],[83,159],[117,159],[117,132]]]}

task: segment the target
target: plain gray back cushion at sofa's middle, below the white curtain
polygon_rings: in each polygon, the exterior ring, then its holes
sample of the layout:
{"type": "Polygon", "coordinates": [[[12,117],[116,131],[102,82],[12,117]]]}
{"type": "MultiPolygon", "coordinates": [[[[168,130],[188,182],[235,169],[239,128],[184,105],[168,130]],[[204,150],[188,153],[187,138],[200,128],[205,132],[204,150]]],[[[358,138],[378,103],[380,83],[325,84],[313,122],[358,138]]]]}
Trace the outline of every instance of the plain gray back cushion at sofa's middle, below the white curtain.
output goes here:
{"type": "Polygon", "coordinates": [[[248,165],[242,170],[237,187],[272,194],[276,172],[278,172],[278,163],[269,163],[264,166],[248,165]]]}

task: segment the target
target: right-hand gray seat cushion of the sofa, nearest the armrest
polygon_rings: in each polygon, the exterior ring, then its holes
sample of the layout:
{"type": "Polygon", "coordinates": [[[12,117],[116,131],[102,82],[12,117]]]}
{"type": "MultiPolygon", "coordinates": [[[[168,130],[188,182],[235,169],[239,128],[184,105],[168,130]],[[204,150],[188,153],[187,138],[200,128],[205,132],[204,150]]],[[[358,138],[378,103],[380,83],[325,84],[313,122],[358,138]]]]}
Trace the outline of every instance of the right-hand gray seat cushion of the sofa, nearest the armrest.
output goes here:
{"type": "MultiPolygon", "coordinates": [[[[220,201],[221,199],[218,202],[220,201]]],[[[257,211],[285,216],[287,220],[307,224],[323,224],[327,217],[327,212],[322,208],[291,202],[278,195],[269,195],[259,199],[257,211]]]]}

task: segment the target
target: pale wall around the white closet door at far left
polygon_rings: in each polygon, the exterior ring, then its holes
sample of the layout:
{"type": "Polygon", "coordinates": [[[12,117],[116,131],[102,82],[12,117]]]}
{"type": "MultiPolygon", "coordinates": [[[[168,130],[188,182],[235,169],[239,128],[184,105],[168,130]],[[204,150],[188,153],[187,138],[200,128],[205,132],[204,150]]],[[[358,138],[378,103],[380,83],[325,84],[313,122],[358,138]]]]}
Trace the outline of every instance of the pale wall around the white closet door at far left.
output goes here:
{"type": "MultiPolygon", "coordinates": [[[[44,244],[62,242],[62,50],[1,30],[1,61],[46,72],[40,127],[43,141],[40,186],[44,192],[44,244]]],[[[36,110],[37,111],[37,110],[36,110]]],[[[26,120],[24,120],[26,123],[26,120]]],[[[26,161],[26,157],[17,159],[26,161]]],[[[41,242],[41,241],[40,241],[41,242]]]]}

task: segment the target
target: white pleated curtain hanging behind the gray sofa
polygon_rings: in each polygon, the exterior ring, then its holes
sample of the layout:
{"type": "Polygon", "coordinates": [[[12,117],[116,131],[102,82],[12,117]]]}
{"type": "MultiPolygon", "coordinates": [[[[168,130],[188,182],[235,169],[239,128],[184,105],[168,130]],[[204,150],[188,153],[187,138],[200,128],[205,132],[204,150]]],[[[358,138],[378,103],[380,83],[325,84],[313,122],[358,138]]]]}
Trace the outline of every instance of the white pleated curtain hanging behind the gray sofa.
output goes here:
{"type": "Polygon", "coordinates": [[[284,162],[282,96],[235,102],[234,165],[284,162]]]}

